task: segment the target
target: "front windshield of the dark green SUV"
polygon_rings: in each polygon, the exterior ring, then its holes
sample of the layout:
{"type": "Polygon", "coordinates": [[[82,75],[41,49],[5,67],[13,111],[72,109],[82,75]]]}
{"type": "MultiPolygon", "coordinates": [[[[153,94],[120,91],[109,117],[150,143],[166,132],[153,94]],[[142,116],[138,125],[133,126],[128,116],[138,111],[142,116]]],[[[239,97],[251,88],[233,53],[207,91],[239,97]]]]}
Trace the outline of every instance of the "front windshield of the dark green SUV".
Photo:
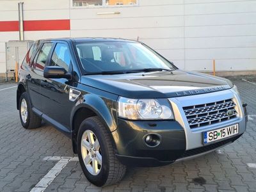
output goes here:
{"type": "Polygon", "coordinates": [[[83,42],[76,44],[76,49],[86,74],[176,69],[155,51],[137,42],[83,42]]]}

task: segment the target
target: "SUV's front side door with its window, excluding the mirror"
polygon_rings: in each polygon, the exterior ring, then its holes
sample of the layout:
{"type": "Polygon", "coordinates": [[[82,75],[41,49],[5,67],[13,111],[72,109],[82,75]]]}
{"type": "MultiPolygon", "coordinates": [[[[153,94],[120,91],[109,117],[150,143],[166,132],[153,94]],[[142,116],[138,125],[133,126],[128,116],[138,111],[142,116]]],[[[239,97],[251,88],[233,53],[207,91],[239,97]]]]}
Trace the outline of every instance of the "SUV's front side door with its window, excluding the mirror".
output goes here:
{"type": "MultiPolygon", "coordinates": [[[[49,59],[49,66],[60,66],[67,72],[72,73],[72,62],[70,49],[65,42],[55,44],[52,56],[49,59]]],[[[46,118],[70,127],[70,113],[74,102],[69,100],[69,90],[72,81],[68,79],[42,79],[40,93],[43,96],[43,113],[46,118]]]]}

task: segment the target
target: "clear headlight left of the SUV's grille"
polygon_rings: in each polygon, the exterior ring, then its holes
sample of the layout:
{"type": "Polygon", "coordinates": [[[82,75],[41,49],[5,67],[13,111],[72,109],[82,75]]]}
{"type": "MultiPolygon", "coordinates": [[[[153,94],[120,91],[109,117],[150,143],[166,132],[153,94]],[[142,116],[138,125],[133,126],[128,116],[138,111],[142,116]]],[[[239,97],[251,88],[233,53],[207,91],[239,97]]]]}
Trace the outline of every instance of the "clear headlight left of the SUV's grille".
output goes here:
{"type": "Polygon", "coordinates": [[[118,99],[118,116],[131,120],[173,119],[172,108],[167,99],[118,99]]]}

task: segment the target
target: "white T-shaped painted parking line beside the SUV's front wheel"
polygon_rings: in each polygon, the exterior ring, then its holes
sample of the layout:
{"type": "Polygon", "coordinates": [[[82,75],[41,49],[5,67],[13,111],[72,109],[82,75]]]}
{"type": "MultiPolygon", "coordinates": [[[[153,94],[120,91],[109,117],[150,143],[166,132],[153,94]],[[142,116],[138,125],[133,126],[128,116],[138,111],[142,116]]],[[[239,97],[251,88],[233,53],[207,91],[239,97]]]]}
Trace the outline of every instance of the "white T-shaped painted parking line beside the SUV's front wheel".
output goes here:
{"type": "Polygon", "coordinates": [[[69,161],[78,161],[77,157],[59,157],[59,156],[48,156],[44,157],[45,161],[58,161],[49,172],[36,184],[35,188],[31,189],[30,192],[43,192],[51,182],[60,174],[61,170],[65,168],[69,161]]]}

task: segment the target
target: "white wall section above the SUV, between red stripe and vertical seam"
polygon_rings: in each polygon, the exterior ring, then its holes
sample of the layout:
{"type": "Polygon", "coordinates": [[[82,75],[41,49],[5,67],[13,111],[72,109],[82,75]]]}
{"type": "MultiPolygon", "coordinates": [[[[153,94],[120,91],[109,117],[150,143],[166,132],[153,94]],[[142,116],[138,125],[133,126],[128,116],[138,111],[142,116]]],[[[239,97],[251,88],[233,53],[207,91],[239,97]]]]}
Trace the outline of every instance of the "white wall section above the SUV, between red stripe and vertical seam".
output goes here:
{"type": "Polygon", "coordinates": [[[184,68],[183,0],[140,0],[123,8],[72,8],[71,36],[104,36],[139,40],[184,68]],[[97,15],[120,12],[120,15],[97,15]],[[82,16],[81,16],[82,15],[82,16]]]}

